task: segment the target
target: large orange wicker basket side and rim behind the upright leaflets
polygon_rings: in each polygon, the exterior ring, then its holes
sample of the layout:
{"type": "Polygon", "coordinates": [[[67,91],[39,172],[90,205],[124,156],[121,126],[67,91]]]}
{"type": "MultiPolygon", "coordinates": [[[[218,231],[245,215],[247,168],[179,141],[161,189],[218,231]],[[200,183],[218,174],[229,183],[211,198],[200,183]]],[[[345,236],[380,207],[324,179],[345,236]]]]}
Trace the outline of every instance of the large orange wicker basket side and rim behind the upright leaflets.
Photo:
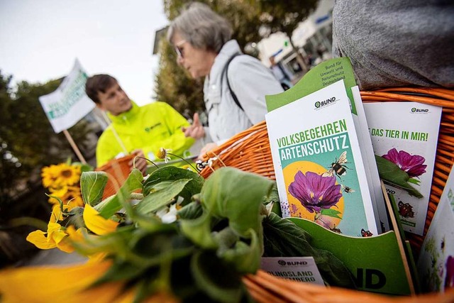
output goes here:
{"type": "MultiPolygon", "coordinates": [[[[424,235],[426,235],[454,162],[454,90],[398,87],[374,92],[361,92],[361,97],[363,102],[414,101],[443,106],[431,197],[424,227],[424,235]]],[[[265,121],[238,133],[223,145],[211,150],[206,154],[204,160],[214,157],[217,157],[219,162],[222,163],[217,162],[211,167],[205,167],[204,170],[201,170],[203,177],[209,177],[216,167],[226,165],[275,179],[265,121]]],[[[415,253],[419,254],[423,236],[408,233],[407,238],[415,253]]]]}

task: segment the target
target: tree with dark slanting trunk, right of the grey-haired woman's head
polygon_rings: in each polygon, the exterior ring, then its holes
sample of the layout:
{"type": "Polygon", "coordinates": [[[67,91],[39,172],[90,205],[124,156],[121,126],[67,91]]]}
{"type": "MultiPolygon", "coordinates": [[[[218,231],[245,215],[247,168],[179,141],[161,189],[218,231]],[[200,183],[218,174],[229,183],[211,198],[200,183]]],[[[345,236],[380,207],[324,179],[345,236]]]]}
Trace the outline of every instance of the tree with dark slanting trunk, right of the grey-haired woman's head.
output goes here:
{"type": "Polygon", "coordinates": [[[306,18],[314,12],[319,0],[250,1],[257,6],[260,6],[260,11],[262,12],[260,20],[263,22],[263,26],[268,29],[269,34],[282,32],[287,35],[290,45],[292,45],[294,52],[297,54],[299,65],[306,70],[305,60],[293,43],[292,34],[299,26],[299,23],[305,21],[306,18]]]}

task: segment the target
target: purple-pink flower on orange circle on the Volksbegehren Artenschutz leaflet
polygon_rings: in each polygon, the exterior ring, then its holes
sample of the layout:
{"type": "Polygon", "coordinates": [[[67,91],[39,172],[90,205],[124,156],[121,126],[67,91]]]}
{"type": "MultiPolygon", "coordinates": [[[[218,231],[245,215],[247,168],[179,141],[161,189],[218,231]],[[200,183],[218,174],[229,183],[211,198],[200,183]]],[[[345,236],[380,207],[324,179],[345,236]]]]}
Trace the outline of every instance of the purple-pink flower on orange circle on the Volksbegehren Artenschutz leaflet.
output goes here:
{"type": "Polygon", "coordinates": [[[297,172],[289,192],[311,213],[329,209],[342,197],[341,184],[336,185],[336,177],[322,177],[315,172],[306,172],[306,175],[297,172]]]}

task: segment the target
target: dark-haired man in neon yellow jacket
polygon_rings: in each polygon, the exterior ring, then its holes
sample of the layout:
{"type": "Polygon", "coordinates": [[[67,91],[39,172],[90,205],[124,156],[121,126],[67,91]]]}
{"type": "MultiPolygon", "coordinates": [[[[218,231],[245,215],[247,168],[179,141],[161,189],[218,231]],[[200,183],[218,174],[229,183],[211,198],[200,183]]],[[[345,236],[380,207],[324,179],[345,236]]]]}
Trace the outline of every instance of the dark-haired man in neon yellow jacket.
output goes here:
{"type": "MultiPolygon", "coordinates": [[[[182,131],[189,122],[172,106],[159,101],[138,106],[110,75],[89,77],[85,91],[99,109],[108,112],[112,121],[96,145],[98,167],[124,154],[125,149],[128,153],[155,160],[160,148],[182,156],[194,143],[194,138],[185,137],[182,131]]],[[[129,165],[132,167],[133,162],[129,165]]],[[[146,160],[135,159],[135,167],[142,172],[146,166],[146,160]]]]}

